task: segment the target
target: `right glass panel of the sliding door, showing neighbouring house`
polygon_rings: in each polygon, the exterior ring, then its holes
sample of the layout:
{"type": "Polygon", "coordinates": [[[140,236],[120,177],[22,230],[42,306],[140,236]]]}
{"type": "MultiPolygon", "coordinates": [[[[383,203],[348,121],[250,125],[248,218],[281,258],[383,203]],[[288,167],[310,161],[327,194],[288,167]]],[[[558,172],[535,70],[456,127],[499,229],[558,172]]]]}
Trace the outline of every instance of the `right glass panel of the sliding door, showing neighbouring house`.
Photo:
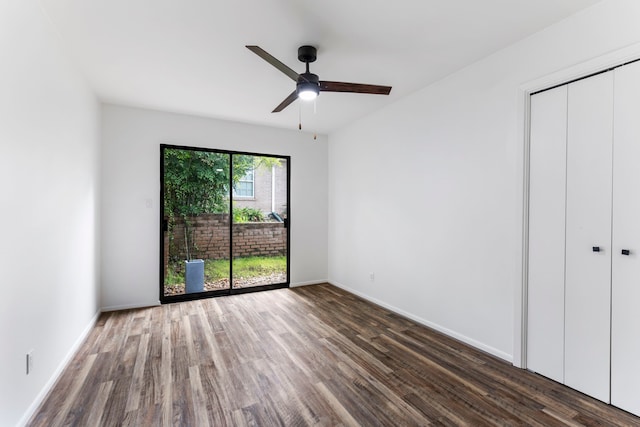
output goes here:
{"type": "Polygon", "coordinates": [[[233,156],[233,289],[288,283],[286,158],[233,156]]]}

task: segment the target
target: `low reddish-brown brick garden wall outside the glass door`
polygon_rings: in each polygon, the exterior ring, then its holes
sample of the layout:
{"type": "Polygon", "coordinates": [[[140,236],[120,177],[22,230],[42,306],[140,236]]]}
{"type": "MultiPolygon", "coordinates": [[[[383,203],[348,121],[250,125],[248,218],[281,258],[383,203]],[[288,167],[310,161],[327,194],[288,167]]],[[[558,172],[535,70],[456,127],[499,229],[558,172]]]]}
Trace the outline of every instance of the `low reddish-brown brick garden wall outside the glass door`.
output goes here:
{"type": "MultiPolygon", "coordinates": [[[[190,218],[197,250],[191,258],[229,259],[229,214],[205,214],[190,218]]],[[[169,259],[186,259],[184,223],[176,220],[173,240],[165,233],[165,265],[169,259]]],[[[282,223],[243,223],[233,226],[234,257],[286,254],[287,229],[282,223]]]]}

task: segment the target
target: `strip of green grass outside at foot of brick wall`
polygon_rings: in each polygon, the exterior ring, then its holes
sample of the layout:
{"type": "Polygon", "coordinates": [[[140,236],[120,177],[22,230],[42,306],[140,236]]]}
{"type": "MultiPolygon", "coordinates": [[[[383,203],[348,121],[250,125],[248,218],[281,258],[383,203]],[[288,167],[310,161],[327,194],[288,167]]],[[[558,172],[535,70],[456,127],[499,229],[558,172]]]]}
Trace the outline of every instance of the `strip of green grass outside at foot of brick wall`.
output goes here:
{"type": "MultiPolygon", "coordinates": [[[[287,270],[287,258],[279,257],[247,257],[233,261],[233,276],[236,278],[252,278],[268,276],[287,270]]],[[[229,277],[229,260],[205,260],[204,280],[214,282],[229,277]]],[[[165,285],[184,283],[184,262],[169,263],[165,285]]]]}

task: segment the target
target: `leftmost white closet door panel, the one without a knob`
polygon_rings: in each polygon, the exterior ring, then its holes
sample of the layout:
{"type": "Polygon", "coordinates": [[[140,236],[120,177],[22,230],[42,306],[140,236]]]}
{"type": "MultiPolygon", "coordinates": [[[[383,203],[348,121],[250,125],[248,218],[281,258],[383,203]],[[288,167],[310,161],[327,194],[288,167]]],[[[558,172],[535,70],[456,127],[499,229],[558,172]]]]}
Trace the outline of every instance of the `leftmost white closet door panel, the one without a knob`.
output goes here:
{"type": "Polygon", "coordinates": [[[527,368],[564,381],[567,86],[531,97],[527,368]]]}

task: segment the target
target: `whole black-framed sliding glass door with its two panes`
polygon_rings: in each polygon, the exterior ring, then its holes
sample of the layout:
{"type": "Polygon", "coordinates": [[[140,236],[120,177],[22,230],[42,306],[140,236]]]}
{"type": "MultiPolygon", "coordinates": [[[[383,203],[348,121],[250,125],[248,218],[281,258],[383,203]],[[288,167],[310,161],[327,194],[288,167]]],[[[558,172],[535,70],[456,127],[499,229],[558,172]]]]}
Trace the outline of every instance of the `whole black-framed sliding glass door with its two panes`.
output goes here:
{"type": "Polygon", "coordinates": [[[160,300],[289,284],[284,156],[160,146],[160,300]]]}

